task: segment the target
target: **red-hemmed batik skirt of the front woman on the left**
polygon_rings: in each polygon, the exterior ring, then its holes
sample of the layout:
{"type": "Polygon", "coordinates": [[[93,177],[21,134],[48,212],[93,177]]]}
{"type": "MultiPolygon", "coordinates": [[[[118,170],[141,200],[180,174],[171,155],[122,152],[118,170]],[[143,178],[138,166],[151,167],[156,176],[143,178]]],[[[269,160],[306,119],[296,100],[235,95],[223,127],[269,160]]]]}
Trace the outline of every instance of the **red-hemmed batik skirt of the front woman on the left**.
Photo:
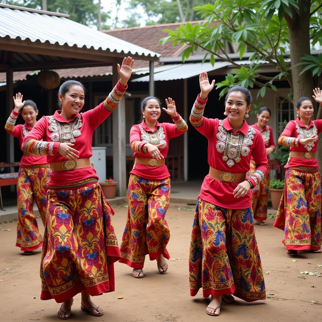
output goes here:
{"type": "Polygon", "coordinates": [[[82,290],[91,296],[114,291],[120,251],[97,180],[51,187],[40,268],[41,299],[62,303],[82,290]]]}

